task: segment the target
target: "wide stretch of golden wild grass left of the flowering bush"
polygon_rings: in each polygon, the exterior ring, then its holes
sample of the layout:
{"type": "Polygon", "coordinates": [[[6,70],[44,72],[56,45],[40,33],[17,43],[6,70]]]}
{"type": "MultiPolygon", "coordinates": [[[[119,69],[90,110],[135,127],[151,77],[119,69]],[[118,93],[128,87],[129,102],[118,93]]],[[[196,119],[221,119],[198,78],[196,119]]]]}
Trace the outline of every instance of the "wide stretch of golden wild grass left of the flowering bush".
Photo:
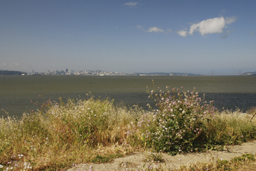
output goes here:
{"type": "Polygon", "coordinates": [[[111,161],[135,150],[126,144],[125,133],[127,124],[143,112],[138,107],[128,110],[93,98],[45,101],[41,107],[20,119],[0,119],[0,170],[61,170],[111,161]]]}

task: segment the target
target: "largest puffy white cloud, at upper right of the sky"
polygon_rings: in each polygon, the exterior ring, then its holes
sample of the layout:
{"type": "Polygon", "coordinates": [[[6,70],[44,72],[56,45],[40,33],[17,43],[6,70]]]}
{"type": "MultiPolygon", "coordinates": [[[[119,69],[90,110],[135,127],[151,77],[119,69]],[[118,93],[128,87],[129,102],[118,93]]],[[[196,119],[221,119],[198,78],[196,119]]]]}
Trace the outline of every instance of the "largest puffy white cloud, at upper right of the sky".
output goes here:
{"type": "MultiPolygon", "coordinates": [[[[193,35],[196,31],[202,36],[205,36],[205,34],[223,33],[223,28],[226,27],[227,24],[231,24],[235,21],[235,17],[227,17],[226,19],[224,19],[224,17],[216,17],[214,19],[202,20],[201,22],[190,26],[189,34],[193,35]]],[[[178,34],[180,36],[186,36],[188,31],[178,31],[178,34]]]]}

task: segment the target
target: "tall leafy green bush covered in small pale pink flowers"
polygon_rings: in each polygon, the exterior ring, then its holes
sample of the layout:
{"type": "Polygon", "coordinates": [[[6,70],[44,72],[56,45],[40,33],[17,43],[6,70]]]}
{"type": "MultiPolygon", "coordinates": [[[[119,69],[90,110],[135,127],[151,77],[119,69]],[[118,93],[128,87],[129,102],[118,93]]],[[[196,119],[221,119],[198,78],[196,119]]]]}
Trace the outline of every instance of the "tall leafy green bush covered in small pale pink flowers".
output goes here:
{"type": "Polygon", "coordinates": [[[164,91],[149,91],[149,98],[156,102],[152,109],[153,119],[144,117],[138,121],[141,128],[141,143],[157,151],[178,152],[195,151],[206,140],[205,123],[214,115],[213,101],[202,102],[195,91],[183,91],[166,86],[164,91]]]}

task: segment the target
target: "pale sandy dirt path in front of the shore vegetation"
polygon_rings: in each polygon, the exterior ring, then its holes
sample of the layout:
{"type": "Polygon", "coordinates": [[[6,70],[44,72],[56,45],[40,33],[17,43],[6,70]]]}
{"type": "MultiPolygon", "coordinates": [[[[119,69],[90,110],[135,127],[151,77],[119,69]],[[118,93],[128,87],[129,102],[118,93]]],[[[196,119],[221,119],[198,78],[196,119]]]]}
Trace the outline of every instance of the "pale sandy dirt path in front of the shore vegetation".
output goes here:
{"type": "MultiPolygon", "coordinates": [[[[213,158],[219,158],[223,160],[231,160],[236,156],[241,156],[242,154],[246,153],[256,153],[256,140],[253,142],[246,142],[242,145],[229,145],[225,147],[222,151],[206,151],[206,152],[199,152],[199,153],[189,153],[189,154],[177,154],[176,156],[170,156],[166,153],[163,153],[163,159],[165,163],[161,165],[165,165],[166,168],[179,168],[180,165],[189,165],[199,162],[209,162],[212,161],[213,158]]],[[[73,170],[125,170],[124,166],[121,166],[122,163],[131,168],[132,170],[136,170],[138,167],[143,165],[143,159],[145,156],[142,153],[134,153],[130,156],[126,156],[124,158],[116,158],[112,163],[102,163],[102,164],[88,164],[82,163],[76,165],[68,169],[68,171],[73,170]]],[[[155,164],[154,164],[155,165],[155,164]]]]}

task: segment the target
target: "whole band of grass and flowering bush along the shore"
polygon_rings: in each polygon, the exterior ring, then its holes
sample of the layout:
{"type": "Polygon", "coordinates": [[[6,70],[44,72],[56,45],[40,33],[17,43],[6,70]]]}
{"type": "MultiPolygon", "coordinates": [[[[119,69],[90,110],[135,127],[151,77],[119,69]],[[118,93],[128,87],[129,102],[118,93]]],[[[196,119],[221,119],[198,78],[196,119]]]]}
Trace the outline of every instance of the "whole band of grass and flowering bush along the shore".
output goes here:
{"type": "Polygon", "coordinates": [[[109,99],[60,99],[38,103],[37,111],[20,119],[2,117],[0,170],[61,170],[145,149],[175,155],[256,138],[255,108],[218,112],[195,91],[168,86],[148,94],[157,109],[114,106],[109,99]]]}

